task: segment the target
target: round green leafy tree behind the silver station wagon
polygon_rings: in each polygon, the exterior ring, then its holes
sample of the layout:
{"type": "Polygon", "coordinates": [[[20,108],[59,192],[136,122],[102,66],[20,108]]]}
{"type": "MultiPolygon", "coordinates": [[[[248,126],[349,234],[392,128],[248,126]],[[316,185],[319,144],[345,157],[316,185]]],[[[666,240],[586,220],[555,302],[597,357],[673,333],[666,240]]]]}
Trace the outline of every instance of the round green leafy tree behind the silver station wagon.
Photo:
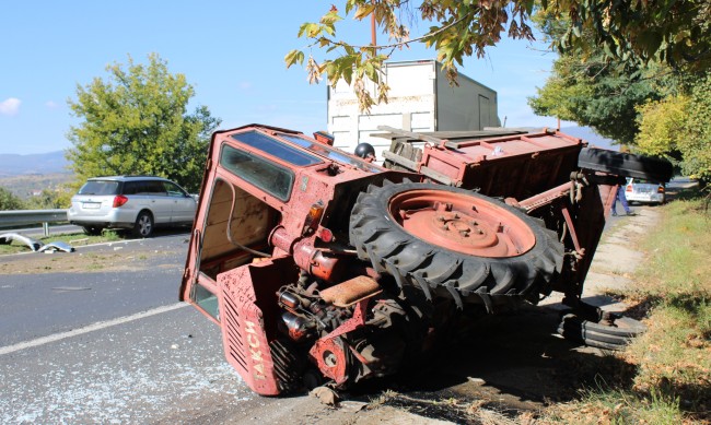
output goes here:
{"type": "Polygon", "coordinates": [[[220,125],[205,106],[187,114],[195,90],[184,74],[149,55],[147,66],[114,63],[108,78],[78,85],[68,104],[82,119],[71,127],[67,152],[81,180],[107,175],[158,175],[188,191],[199,188],[210,133],[220,125]]]}

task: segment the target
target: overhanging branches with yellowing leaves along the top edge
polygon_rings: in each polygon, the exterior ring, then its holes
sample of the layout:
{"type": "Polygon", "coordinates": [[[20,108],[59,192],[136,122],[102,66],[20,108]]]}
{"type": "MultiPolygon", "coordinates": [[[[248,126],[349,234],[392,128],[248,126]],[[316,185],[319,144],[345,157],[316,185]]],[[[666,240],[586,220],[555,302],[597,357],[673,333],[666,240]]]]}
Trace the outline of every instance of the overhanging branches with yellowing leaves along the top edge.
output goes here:
{"type": "Polygon", "coordinates": [[[462,64],[465,56],[482,57],[486,48],[503,36],[532,39],[528,24],[535,10],[549,14],[552,26],[566,23],[549,32],[552,47],[560,52],[576,51],[585,57],[599,50],[605,58],[638,67],[650,61],[697,70],[711,64],[708,0],[423,0],[416,8],[407,0],[346,0],[346,16],[373,17],[392,43],[357,46],[338,39],[337,25],[345,15],[331,7],[318,22],[304,23],[299,29],[299,37],[310,40],[310,50],[324,49],[327,57],[319,62],[294,49],[284,61],[288,67],[306,61],[312,82],[324,73],[331,85],[345,79],[353,85],[361,109],[369,109],[375,101],[364,80],[377,84],[378,101],[387,101],[388,87],[380,79],[380,70],[397,48],[411,43],[433,47],[454,81],[456,63],[462,64]],[[432,25],[424,35],[410,38],[403,22],[408,20],[432,25]]]}

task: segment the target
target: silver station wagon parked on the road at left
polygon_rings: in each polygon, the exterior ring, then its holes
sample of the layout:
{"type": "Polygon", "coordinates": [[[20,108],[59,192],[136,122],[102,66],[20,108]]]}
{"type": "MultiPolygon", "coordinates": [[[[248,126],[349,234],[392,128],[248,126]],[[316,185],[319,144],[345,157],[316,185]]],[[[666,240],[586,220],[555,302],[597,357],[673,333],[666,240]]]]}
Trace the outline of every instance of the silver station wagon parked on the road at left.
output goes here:
{"type": "Polygon", "coordinates": [[[67,220],[90,235],[124,228],[149,237],[155,227],[193,224],[195,210],[195,198],[162,177],[95,177],[72,197],[67,220]]]}

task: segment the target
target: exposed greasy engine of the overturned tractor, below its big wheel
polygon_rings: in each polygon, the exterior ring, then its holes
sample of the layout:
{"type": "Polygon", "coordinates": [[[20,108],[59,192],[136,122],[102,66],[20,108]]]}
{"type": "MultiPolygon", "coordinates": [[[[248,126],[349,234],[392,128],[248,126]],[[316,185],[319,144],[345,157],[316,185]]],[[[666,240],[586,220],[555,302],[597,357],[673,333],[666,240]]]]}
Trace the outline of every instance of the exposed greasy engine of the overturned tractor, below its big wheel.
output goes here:
{"type": "Polygon", "coordinates": [[[279,330],[304,347],[300,355],[339,387],[396,371],[407,346],[401,335],[417,332],[400,303],[369,276],[319,285],[301,280],[277,293],[279,330]]]}

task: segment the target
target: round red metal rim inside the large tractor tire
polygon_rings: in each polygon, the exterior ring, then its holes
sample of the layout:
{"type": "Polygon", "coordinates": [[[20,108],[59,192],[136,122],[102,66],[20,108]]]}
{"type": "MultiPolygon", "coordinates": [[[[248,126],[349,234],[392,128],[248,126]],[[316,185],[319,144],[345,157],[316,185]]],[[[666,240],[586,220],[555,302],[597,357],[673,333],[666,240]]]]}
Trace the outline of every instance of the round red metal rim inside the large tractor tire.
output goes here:
{"type": "Polygon", "coordinates": [[[536,236],[521,217],[466,193],[409,190],[391,198],[388,211],[412,236],[462,253],[515,257],[536,244],[536,236]]]}

